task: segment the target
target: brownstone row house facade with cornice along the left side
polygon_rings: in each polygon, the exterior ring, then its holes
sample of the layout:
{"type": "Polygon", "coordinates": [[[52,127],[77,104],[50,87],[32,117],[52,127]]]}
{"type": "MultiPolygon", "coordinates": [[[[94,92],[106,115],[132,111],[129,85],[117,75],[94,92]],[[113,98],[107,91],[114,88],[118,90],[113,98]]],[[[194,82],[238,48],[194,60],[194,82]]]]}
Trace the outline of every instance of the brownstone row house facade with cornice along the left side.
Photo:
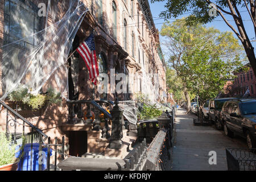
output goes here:
{"type": "MultiPolygon", "coordinates": [[[[36,32],[44,30],[45,27],[61,22],[61,19],[63,19],[69,8],[69,1],[52,1],[50,5],[48,5],[48,2],[51,1],[0,0],[1,62],[3,62],[3,55],[7,53],[1,46],[13,44],[15,41],[23,39],[22,44],[15,47],[16,54],[10,55],[10,60],[19,63],[18,56],[16,55],[19,55],[21,50],[28,47],[35,48],[40,45],[40,41],[36,42],[35,38],[26,39],[27,36],[36,34],[36,32]],[[39,16],[39,3],[45,3],[47,7],[46,16],[39,16]]],[[[166,98],[163,97],[165,95],[164,93],[166,93],[166,65],[164,64],[163,54],[160,48],[159,32],[154,26],[148,1],[80,0],[79,2],[84,3],[89,11],[83,17],[79,24],[80,26],[77,27],[69,54],[71,55],[79,44],[93,33],[100,73],[106,73],[110,77],[112,70],[114,70],[115,75],[124,73],[125,75],[131,76],[129,77],[130,84],[127,85],[129,92],[118,94],[120,101],[133,100],[134,93],[142,92],[148,94],[152,101],[166,102],[166,98]],[[137,77],[133,75],[137,75],[137,77]]],[[[53,62],[59,59],[59,57],[54,55],[55,49],[63,46],[63,44],[60,42],[55,46],[51,47],[46,53],[48,57],[51,57],[53,62]]],[[[54,77],[61,75],[63,78],[67,77],[68,80],[68,93],[63,95],[66,98],[68,97],[69,100],[104,99],[114,101],[115,91],[113,89],[115,89],[116,83],[114,82],[114,85],[111,85],[111,78],[109,79],[109,83],[105,85],[108,92],[100,94],[96,91],[97,86],[93,88],[92,83],[89,81],[88,70],[78,53],[71,55],[68,59],[68,64],[67,72],[60,72],[61,69],[56,69],[56,71],[53,71],[54,74],[49,75],[50,77],[45,76],[47,80],[43,82],[40,90],[45,92],[49,85],[59,89],[60,86],[57,86],[58,82],[54,77]]],[[[64,69],[66,67],[61,65],[60,68],[64,69]]],[[[6,89],[3,83],[5,77],[2,75],[6,70],[3,69],[3,67],[0,67],[1,97],[5,94],[6,89]]],[[[31,75],[33,75],[32,71],[31,75]]],[[[20,82],[29,82],[31,75],[28,74],[20,82]]],[[[61,86],[65,88],[65,85],[61,86]]],[[[85,110],[86,105],[83,105],[82,108],[85,110]]],[[[0,113],[0,131],[5,131],[5,121],[6,113],[3,110],[0,113]]],[[[100,152],[105,148],[105,140],[97,140],[95,137],[89,137],[96,136],[95,132],[92,131],[92,126],[79,125],[72,127],[72,129],[66,126],[68,123],[68,105],[65,99],[63,99],[62,106],[48,106],[44,112],[36,117],[29,117],[28,121],[42,129],[52,139],[54,137],[60,139],[64,135],[65,151],[67,154],[74,154],[74,151],[71,151],[69,147],[74,145],[74,143],[71,143],[71,140],[75,140],[71,139],[72,134],[70,130],[84,132],[80,133],[79,136],[81,138],[83,137],[85,141],[80,141],[79,145],[82,146],[81,142],[86,144],[83,145],[84,148],[77,149],[75,155],[80,155],[82,154],[81,152],[100,152]]],[[[22,126],[18,126],[19,129],[22,130],[22,126]]],[[[26,128],[26,132],[28,131],[30,129],[26,128]]]]}

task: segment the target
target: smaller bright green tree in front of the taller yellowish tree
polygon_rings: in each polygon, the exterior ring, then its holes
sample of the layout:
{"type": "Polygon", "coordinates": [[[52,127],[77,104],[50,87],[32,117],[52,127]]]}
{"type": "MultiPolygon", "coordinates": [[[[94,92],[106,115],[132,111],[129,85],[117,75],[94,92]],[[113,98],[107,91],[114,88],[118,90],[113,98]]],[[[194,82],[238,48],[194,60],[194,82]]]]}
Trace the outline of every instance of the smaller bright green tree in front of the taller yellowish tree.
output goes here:
{"type": "Polygon", "coordinates": [[[233,78],[234,68],[241,66],[238,60],[220,60],[212,57],[213,46],[192,48],[183,56],[186,67],[191,70],[191,79],[187,88],[199,96],[199,117],[203,123],[203,105],[210,98],[216,97],[224,89],[226,81],[233,78]]]}

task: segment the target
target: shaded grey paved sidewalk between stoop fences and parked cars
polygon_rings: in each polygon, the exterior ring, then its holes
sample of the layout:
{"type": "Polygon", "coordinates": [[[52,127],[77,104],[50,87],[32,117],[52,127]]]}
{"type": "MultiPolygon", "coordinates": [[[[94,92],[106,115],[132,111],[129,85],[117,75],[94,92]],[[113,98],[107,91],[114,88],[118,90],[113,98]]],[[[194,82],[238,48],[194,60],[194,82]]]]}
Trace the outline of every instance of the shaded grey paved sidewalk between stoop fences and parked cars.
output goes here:
{"type": "Polygon", "coordinates": [[[246,147],[245,139],[225,137],[223,131],[214,126],[195,126],[196,115],[185,114],[185,110],[177,109],[175,122],[175,139],[172,151],[172,171],[225,171],[226,147],[246,147]],[[217,164],[209,164],[209,151],[216,151],[217,164]]]}

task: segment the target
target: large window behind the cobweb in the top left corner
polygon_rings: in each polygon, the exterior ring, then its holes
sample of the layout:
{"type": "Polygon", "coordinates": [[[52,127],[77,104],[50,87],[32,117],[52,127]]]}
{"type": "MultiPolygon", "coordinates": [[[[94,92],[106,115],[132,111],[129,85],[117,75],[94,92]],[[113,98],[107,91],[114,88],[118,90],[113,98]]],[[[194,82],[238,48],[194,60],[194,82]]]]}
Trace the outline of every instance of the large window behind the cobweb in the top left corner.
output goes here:
{"type": "MultiPolygon", "coordinates": [[[[38,7],[30,1],[6,0],[4,14],[4,44],[15,42],[35,34],[42,28],[38,7]]],[[[17,43],[17,48],[32,48],[38,45],[38,38],[30,36],[17,43]]]]}

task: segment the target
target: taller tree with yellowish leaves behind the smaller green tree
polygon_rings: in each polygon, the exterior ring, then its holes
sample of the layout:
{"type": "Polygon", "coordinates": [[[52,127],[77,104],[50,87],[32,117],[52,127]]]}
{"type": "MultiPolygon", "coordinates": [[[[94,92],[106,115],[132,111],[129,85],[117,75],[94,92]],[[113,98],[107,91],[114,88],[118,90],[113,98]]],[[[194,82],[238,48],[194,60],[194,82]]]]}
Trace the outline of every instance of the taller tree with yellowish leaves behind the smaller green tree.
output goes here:
{"type": "Polygon", "coordinates": [[[183,57],[193,55],[192,49],[196,47],[212,48],[209,59],[222,59],[225,61],[243,60],[242,47],[234,38],[232,32],[220,32],[215,28],[206,28],[202,24],[189,26],[185,18],[173,23],[163,24],[160,34],[164,36],[166,54],[170,57],[167,66],[175,69],[177,77],[183,82],[183,92],[187,100],[187,113],[191,110],[188,81],[192,71],[183,57]]]}

